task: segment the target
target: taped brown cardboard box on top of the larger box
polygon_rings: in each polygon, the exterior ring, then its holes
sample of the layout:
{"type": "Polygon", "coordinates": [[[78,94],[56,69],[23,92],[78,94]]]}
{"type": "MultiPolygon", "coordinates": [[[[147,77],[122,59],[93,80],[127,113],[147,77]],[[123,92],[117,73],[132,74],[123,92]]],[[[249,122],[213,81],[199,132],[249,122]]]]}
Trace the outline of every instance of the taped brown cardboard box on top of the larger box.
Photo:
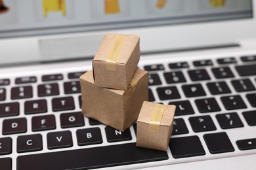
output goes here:
{"type": "Polygon", "coordinates": [[[140,59],[137,35],[106,34],[93,59],[95,84],[127,90],[140,59]]]}

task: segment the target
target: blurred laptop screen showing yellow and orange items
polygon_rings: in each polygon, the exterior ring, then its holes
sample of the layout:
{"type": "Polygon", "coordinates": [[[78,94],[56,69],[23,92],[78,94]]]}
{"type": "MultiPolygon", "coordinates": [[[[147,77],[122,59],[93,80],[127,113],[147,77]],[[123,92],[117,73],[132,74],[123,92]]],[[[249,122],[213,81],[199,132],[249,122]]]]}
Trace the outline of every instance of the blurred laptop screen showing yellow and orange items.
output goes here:
{"type": "Polygon", "coordinates": [[[0,37],[252,18],[251,0],[0,0],[0,37]]]}

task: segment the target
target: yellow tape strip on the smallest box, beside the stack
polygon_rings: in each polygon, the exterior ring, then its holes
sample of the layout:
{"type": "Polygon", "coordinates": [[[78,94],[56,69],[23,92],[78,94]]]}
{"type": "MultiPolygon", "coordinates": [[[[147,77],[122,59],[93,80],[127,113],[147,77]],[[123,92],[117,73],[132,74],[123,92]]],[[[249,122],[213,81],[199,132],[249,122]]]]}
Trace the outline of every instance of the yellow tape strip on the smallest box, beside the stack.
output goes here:
{"type": "Polygon", "coordinates": [[[161,118],[163,118],[163,112],[165,111],[165,105],[157,104],[154,108],[148,131],[158,132],[160,129],[161,118]]]}

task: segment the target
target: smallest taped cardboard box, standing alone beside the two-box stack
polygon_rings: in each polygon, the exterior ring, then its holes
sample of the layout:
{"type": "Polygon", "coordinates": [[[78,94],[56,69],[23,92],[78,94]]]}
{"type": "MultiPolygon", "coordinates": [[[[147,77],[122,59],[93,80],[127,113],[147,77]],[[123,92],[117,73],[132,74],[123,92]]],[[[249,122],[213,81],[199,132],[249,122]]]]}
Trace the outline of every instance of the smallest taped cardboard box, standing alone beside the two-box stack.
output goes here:
{"type": "Polygon", "coordinates": [[[166,151],[173,131],[175,105],[144,101],[137,120],[136,146],[166,151]]]}

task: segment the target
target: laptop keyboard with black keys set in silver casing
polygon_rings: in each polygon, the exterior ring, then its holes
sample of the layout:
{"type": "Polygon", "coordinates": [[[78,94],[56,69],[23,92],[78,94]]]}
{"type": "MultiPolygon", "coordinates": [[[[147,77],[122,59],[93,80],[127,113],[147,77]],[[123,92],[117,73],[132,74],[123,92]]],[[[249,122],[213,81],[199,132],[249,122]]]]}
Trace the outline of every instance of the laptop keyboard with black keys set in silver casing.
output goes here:
{"type": "Polygon", "coordinates": [[[79,76],[85,71],[0,78],[1,169],[166,165],[256,154],[255,133],[235,135],[256,128],[255,61],[240,56],[139,65],[150,73],[149,101],[177,106],[167,152],[137,148],[136,123],[122,133],[84,117],[79,76]]]}

